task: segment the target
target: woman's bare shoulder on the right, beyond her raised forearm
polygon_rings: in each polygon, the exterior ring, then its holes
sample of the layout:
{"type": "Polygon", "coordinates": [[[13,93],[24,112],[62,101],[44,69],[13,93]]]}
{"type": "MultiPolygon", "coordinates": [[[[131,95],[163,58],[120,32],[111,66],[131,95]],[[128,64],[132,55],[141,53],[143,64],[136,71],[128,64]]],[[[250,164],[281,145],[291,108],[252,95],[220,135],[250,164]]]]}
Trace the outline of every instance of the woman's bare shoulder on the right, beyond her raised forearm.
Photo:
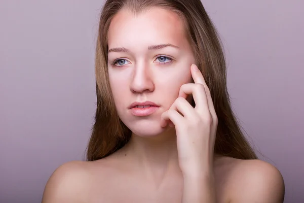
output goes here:
{"type": "Polygon", "coordinates": [[[231,202],[270,202],[284,200],[284,180],[280,171],[262,160],[225,158],[222,161],[231,202]]]}

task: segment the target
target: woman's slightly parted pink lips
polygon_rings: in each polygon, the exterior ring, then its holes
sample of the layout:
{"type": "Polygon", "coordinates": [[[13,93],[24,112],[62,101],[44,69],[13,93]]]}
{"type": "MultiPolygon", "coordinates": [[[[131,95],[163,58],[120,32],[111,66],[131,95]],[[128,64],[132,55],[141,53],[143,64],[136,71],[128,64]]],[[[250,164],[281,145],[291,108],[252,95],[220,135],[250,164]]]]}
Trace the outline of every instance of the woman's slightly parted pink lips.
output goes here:
{"type": "Polygon", "coordinates": [[[155,103],[153,103],[151,101],[145,101],[145,102],[141,102],[141,103],[134,102],[129,106],[129,109],[134,116],[148,116],[148,115],[156,112],[159,108],[160,108],[160,106],[156,105],[155,103]],[[147,108],[136,107],[136,106],[147,106],[147,105],[150,105],[151,107],[147,107],[147,108]]]}

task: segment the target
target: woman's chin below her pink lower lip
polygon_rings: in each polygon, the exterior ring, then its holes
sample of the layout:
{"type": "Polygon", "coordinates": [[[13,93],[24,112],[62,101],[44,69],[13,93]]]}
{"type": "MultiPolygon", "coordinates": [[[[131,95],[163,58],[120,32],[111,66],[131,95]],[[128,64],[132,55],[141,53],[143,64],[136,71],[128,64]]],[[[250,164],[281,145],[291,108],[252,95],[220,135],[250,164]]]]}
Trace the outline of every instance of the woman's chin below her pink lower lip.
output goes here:
{"type": "Polygon", "coordinates": [[[154,137],[165,131],[159,121],[139,120],[137,122],[125,123],[125,125],[139,137],[154,137]]]}

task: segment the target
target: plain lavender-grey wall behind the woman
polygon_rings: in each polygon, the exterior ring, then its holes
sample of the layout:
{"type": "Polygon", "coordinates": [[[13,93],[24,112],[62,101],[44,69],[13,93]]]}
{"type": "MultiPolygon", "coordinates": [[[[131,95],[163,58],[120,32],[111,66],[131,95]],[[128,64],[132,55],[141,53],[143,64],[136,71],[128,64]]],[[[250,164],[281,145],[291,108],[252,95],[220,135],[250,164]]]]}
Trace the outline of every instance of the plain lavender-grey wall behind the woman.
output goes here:
{"type": "MultiPolygon", "coordinates": [[[[40,202],[55,168],[84,158],[102,3],[0,2],[0,202],[40,202]]],[[[224,41],[237,115],[283,174],[285,202],[304,202],[304,2],[203,3],[224,41]]]]}

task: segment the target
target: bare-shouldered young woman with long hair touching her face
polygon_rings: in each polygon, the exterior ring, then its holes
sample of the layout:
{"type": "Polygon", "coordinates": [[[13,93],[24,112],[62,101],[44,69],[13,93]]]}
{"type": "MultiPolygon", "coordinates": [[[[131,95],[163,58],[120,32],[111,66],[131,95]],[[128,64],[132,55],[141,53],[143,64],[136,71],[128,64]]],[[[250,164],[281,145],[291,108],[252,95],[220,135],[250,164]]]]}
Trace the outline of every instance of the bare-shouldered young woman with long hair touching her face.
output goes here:
{"type": "Polygon", "coordinates": [[[223,51],[200,0],[108,0],[96,48],[88,161],[43,202],[283,202],[232,112],[223,51]]]}

